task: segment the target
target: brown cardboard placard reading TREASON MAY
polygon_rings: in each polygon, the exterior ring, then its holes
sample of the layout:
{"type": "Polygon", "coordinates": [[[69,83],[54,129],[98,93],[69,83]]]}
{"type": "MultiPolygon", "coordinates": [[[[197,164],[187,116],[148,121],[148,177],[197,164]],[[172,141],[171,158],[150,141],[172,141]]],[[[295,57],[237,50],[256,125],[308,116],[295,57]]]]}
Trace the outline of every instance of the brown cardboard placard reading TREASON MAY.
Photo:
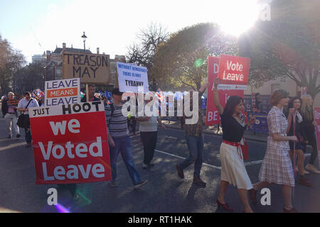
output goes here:
{"type": "Polygon", "coordinates": [[[110,55],[63,52],[63,79],[80,78],[81,84],[110,81],[110,55]]]}

